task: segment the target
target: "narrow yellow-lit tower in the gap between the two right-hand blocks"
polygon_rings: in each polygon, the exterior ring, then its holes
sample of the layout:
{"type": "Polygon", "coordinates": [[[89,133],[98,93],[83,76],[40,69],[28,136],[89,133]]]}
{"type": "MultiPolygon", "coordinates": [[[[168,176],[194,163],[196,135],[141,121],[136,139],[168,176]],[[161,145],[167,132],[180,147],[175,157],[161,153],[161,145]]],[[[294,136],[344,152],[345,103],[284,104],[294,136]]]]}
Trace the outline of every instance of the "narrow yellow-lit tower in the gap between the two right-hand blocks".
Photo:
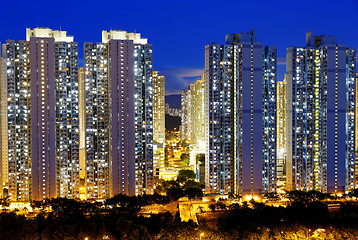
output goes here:
{"type": "Polygon", "coordinates": [[[277,82],[277,187],[286,184],[286,77],[277,82]]]}

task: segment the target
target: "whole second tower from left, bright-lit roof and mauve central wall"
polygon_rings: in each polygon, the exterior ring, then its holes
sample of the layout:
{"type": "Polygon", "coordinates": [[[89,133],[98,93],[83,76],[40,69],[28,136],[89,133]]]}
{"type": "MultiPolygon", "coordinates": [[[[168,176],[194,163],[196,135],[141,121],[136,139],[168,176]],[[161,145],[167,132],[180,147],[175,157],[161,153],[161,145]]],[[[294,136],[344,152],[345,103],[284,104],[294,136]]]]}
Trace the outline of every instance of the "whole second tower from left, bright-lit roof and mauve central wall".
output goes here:
{"type": "Polygon", "coordinates": [[[152,45],[139,33],[85,43],[86,195],[153,192],[152,45]]]}

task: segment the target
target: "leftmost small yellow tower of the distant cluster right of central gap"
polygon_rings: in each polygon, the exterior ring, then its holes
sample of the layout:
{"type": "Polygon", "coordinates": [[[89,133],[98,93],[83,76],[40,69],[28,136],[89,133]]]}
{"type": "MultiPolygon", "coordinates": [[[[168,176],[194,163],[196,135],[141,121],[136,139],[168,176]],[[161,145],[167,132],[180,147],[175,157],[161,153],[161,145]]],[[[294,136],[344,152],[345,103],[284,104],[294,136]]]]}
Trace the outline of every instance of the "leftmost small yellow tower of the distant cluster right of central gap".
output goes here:
{"type": "Polygon", "coordinates": [[[181,139],[190,140],[190,86],[187,90],[181,90],[181,139]]]}

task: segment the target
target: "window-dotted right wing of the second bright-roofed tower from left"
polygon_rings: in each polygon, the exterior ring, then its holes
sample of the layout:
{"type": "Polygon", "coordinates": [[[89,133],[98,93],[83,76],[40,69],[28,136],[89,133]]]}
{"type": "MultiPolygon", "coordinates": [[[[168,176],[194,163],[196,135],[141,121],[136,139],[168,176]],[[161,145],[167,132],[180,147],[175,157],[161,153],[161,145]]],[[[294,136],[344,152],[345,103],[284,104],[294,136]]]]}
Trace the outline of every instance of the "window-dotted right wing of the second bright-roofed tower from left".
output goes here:
{"type": "Polygon", "coordinates": [[[153,178],[153,50],[134,44],[135,194],[152,194],[153,178]],[[144,80],[144,81],[143,81],[144,80]],[[136,99],[136,96],[138,98],[136,99]],[[141,113],[141,116],[139,115],[141,113]],[[137,117],[137,118],[136,118],[137,117]]]}

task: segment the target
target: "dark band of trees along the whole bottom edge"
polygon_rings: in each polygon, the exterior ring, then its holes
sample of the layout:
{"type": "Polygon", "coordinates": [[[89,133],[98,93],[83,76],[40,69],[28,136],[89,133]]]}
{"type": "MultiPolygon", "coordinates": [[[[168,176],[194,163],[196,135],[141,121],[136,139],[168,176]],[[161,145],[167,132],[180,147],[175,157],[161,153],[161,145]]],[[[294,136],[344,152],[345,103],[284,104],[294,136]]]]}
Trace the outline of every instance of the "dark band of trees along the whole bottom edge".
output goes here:
{"type": "Polygon", "coordinates": [[[1,239],[356,239],[358,205],[343,202],[335,211],[320,201],[294,201],[287,207],[251,202],[199,214],[200,225],[169,212],[138,216],[142,206],[167,203],[159,194],[117,195],[104,203],[53,199],[34,203],[33,218],[0,214],[1,239]],[[46,213],[49,205],[53,211],[46,213]],[[210,220],[211,218],[211,220],[210,220]],[[208,224],[214,221],[214,225],[208,224]],[[317,230],[320,229],[320,230],[317,230]]]}

